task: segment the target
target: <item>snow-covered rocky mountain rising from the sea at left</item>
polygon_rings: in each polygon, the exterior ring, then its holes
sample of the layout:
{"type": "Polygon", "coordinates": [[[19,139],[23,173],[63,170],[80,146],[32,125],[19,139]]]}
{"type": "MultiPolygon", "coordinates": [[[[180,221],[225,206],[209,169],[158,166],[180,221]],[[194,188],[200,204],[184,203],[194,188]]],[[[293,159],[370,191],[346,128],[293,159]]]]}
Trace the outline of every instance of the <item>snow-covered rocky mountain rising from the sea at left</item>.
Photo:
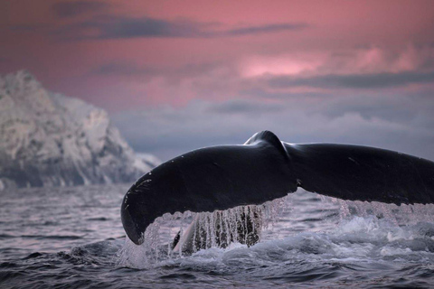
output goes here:
{"type": "Polygon", "coordinates": [[[157,164],[134,153],[103,109],[43,89],[26,70],[0,77],[0,191],[133,182],[157,164]]]}

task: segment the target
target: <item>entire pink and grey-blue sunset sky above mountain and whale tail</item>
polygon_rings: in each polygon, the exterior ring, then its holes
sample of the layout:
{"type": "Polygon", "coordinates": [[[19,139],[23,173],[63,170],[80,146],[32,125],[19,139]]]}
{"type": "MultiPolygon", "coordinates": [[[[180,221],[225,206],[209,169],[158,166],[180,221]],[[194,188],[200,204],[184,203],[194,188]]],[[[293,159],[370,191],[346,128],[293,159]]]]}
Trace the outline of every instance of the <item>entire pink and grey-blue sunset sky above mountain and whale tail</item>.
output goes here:
{"type": "Polygon", "coordinates": [[[0,74],[109,112],[163,161],[271,130],[434,160],[433,1],[0,3],[0,74]]]}

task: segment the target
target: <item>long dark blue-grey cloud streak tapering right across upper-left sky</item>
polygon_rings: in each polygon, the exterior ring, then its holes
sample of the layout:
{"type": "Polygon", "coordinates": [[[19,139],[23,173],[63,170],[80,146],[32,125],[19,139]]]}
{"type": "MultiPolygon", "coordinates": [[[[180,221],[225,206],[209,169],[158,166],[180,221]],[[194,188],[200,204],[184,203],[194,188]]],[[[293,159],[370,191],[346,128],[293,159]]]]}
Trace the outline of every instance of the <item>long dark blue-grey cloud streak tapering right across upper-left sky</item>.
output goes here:
{"type": "Polygon", "coordinates": [[[307,28],[306,23],[267,24],[229,30],[217,29],[220,26],[219,23],[199,23],[191,20],[169,21],[151,17],[133,18],[105,14],[94,17],[89,21],[62,26],[55,33],[63,38],[76,40],[139,37],[212,38],[296,31],[307,28]]]}

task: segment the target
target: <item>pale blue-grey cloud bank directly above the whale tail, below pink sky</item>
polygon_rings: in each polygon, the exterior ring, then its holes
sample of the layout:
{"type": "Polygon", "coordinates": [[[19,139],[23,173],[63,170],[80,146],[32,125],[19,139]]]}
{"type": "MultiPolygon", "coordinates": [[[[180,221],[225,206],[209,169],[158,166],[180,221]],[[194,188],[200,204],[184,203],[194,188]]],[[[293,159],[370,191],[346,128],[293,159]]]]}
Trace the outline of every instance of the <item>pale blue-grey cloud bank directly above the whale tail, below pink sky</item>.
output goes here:
{"type": "Polygon", "coordinates": [[[253,100],[202,101],[118,113],[113,120],[137,151],[164,160],[207,145],[242,144],[264,129],[290,143],[373,145],[434,160],[432,97],[346,98],[287,99],[278,109],[253,100]]]}

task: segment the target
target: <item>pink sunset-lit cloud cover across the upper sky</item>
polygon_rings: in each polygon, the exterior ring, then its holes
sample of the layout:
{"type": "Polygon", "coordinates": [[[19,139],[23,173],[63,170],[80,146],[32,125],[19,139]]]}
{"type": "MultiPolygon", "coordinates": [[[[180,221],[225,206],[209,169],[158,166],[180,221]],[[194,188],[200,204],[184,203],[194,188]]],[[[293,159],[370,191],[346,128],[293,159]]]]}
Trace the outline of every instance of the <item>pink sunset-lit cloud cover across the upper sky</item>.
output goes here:
{"type": "MultiPolygon", "coordinates": [[[[351,77],[422,73],[434,68],[430,1],[395,1],[392,5],[378,1],[219,1],[206,5],[201,1],[107,1],[93,9],[81,7],[79,14],[69,14],[63,6],[64,17],[59,11],[56,14],[55,3],[14,2],[1,10],[0,33],[5,42],[0,48],[4,59],[0,72],[27,68],[49,89],[109,109],[181,107],[194,99],[250,98],[253,93],[246,91],[255,89],[299,95],[350,93],[354,88],[325,89],[309,81],[304,86],[270,88],[262,76],[351,77]],[[105,19],[103,26],[96,19],[105,19]],[[187,37],[187,33],[182,37],[181,33],[172,37],[168,33],[158,38],[138,33],[124,39],[65,42],[55,33],[78,25],[91,31],[103,28],[116,36],[108,27],[128,33],[132,29],[128,25],[141,28],[146,19],[178,28],[180,23],[211,27],[226,35],[187,37]],[[306,23],[306,27],[291,30],[288,23],[306,23]],[[122,64],[124,71],[93,73],[113,63],[122,64]]],[[[412,83],[405,89],[426,85],[412,83]]]]}

